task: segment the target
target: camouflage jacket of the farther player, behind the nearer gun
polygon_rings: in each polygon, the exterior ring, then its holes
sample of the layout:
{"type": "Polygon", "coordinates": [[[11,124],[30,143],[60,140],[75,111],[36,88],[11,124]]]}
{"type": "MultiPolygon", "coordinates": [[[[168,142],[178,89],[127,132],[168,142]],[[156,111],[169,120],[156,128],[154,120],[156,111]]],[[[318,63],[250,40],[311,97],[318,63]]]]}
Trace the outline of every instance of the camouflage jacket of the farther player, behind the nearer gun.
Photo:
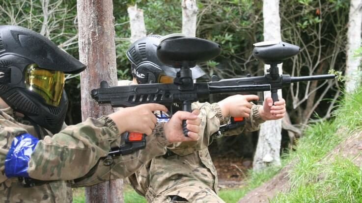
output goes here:
{"type": "MultiPolygon", "coordinates": [[[[183,197],[189,202],[222,202],[215,194],[218,191],[218,177],[207,146],[212,142],[211,135],[228,118],[223,118],[217,103],[194,102],[192,106],[193,109],[200,109],[201,139],[195,143],[174,143],[169,149],[176,155],[155,157],[127,178],[149,203],[165,202],[166,196],[173,195],[183,197]]],[[[263,122],[259,117],[259,105],[253,105],[246,125],[228,131],[223,136],[237,135],[244,129],[255,131],[263,122]]]]}

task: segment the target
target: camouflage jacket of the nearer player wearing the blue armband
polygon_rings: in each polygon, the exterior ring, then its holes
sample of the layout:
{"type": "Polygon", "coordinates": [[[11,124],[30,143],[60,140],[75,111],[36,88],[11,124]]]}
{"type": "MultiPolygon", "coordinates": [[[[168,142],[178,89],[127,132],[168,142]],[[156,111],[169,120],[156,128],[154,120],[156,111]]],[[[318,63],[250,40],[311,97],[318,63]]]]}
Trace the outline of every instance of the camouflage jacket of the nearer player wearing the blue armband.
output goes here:
{"type": "MultiPolygon", "coordinates": [[[[64,125],[57,134],[34,126],[25,120],[14,119],[11,108],[0,109],[0,202],[27,202],[27,203],[71,203],[71,183],[75,178],[83,177],[97,164],[100,157],[110,151],[110,143],[119,142],[118,128],[107,116],[99,119],[88,118],[85,122],[75,126],[64,125]],[[37,133],[40,132],[40,134],[37,133]],[[54,180],[40,186],[24,188],[18,178],[7,178],[4,173],[4,159],[15,136],[29,133],[41,139],[28,162],[30,178],[40,180],[54,180]]],[[[160,131],[163,125],[157,125],[155,130],[160,131]]],[[[166,152],[169,145],[164,136],[147,136],[151,153],[134,153],[128,155],[127,163],[122,170],[131,174],[137,167],[156,155],[166,152]],[[144,157],[143,157],[144,156],[144,157]],[[139,159],[143,162],[140,163],[139,159]]],[[[124,177],[120,172],[119,177],[124,177]]]]}

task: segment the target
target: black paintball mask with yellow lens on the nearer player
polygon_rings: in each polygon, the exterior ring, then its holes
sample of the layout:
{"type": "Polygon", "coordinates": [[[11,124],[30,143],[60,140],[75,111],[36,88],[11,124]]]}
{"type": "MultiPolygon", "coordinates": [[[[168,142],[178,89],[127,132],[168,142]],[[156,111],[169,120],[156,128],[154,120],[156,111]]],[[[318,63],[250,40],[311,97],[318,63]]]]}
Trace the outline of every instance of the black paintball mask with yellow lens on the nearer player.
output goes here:
{"type": "Polygon", "coordinates": [[[52,133],[61,129],[68,108],[64,74],[84,69],[83,63],[43,35],[0,25],[0,97],[52,133]]]}

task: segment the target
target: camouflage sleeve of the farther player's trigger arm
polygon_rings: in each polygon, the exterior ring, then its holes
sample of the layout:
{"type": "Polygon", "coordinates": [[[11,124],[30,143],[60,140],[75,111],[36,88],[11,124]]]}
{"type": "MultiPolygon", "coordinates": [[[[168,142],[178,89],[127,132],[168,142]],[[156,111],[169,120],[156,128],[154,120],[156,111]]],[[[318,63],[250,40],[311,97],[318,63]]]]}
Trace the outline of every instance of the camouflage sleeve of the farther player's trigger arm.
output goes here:
{"type": "Polygon", "coordinates": [[[173,143],[167,147],[177,155],[185,156],[207,148],[212,142],[210,136],[219,130],[220,120],[223,120],[223,114],[221,114],[219,105],[210,104],[208,102],[194,102],[192,103],[192,109],[195,108],[200,109],[200,114],[198,115],[201,120],[200,131],[198,133],[200,139],[191,142],[173,143]]]}

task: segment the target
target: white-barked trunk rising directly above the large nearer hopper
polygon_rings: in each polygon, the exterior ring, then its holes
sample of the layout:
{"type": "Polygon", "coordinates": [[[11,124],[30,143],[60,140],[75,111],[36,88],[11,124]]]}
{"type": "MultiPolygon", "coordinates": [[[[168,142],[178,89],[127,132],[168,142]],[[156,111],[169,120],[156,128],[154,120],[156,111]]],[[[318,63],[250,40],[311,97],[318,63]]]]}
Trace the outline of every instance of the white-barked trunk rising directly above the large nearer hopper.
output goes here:
{"type": "Polygon", "coordinates": [[[196,36],[196,20],[198,8],[196,0],[181,0],[182,33],[189,37],[196,36]]]}

